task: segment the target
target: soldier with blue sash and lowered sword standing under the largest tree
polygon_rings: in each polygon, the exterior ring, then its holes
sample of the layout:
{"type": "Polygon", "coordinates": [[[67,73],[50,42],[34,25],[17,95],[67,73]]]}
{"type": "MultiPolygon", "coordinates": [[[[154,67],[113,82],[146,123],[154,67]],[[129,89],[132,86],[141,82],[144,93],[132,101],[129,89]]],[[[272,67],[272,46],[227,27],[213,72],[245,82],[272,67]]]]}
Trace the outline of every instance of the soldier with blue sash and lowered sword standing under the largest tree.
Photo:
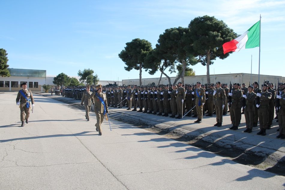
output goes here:
{"type": "Polygon", "coordinates": [[[201,82],[197,82],[197,88],[195,90],[194,96],[196,97],[196,111],[198,119],[194,121],[195,123],[202,123],[202,112],[203,112],[203,105],[205,104],[205,90],[201,88],[201,82]]]}

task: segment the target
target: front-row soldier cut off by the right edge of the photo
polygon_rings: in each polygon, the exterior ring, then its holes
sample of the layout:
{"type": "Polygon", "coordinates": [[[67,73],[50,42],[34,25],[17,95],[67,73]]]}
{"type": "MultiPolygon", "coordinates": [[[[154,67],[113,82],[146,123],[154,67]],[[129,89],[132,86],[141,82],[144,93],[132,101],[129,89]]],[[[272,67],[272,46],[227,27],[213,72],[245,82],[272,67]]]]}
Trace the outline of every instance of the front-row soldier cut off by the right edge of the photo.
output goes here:
{"type": "Polygon", "coordinates": [[[276,98],[280,99],[280,109],[278,113],[279,135],[277,138],[285,138],[285,88],[276,98]]]}

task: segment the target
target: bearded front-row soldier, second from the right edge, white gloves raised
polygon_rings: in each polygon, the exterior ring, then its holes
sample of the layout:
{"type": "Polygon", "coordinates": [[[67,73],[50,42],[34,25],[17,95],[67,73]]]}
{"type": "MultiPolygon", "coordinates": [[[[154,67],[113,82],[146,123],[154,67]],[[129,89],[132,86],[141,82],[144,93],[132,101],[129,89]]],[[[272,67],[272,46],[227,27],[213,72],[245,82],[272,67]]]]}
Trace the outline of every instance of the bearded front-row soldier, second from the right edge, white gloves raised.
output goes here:
{"type": "Polygon", "coordinates": [[[256,96],[259,96],[259,104],[256,104],[258,108],[258,117],[259,117],[259,129],[260,131],[257,135],[266,135],[266,129],[268,129],[268,110],[269,102],[272,94],[267,91],[268,86],[266,84],[262,85],[262,93],[257,93],[256,96]]]}

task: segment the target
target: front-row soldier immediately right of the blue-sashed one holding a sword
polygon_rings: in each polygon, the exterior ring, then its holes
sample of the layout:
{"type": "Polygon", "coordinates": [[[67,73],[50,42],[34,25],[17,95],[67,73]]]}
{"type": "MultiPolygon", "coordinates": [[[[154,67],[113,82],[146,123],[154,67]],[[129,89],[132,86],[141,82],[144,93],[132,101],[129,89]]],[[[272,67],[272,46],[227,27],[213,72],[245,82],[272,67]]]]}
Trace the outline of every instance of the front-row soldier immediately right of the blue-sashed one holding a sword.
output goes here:
{"type": "Polygon", "coordinates": [[[221,88],[221,82],[216,82],[216,90],[213,95],[215,98],[215,111],[217,123],[214,126],[220,127],[223,123],[223,109],[226,105],[226,93],[223,88],[221,88]]]}

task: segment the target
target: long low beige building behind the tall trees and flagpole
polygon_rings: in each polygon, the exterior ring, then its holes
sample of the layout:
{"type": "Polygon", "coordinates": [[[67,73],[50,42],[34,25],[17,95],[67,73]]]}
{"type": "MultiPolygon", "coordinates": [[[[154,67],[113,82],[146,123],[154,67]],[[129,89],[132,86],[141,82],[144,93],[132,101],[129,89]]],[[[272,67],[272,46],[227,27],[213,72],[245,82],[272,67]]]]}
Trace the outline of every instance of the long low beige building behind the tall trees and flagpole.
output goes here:
{"type": "MultiPolygon", "coordinates": [[[[170,77],[171,84],[175,81],[176,77],[170,77]]],[[[142,85],[158,85],[159,78],[148,78],[148,79],[142,79],[142,85]]],[[[187,85],[196,84],[197,82],[201,82],[201,84],[207,84],[207,76],[206,75],[196,75],[196,76],[185,76],[184,77],[184,83],[187,85]]],[[[229,74],[220,74],[220,75],[210,75],[210,81],[212,84],[216,83],[217,81],[220,81],[221,83],[245,83],[246,86],[250,83],[250,74],[248,73],[229,73],[229,74]]],[[[258,75],[252,74],[252,81],[258,82],[258,75]]],[[[263,84],[264,81],[270,81],[273,83],[273,85],[278,84],[279,82],[285,82],[285,77],[282,76],[271,76],[271,75],[260,75],[260,82],[259,84],[263,84]]],[[[181,78],[176,82],[181,82],[181,78]]],[[[167,85],[168,79],[166,77],[162,77],[160,81],[160,85],[167,85]]],[[[122,80],[123,85],[139,85],[140,79],[125,79],[122,80]]]]}

